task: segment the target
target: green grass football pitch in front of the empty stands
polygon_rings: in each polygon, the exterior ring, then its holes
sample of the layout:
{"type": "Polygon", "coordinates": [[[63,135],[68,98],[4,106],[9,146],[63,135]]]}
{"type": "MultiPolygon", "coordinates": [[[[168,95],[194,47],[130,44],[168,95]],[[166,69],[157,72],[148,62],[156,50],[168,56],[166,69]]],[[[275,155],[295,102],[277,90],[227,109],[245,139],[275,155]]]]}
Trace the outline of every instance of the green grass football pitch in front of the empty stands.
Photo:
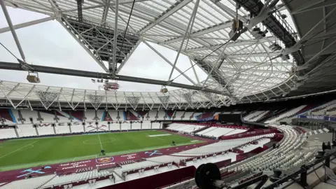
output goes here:
{"type": "Polygon", "coordinates": [[[194,139],[178,134],[160,134],[167,132],[152,130],[8,140],[0,143],[0,171],[96,158],[102,148],[106,155],[118,155],[169,147],[172,141],[178,146],[202,142],[193,142],[194,139]]]}

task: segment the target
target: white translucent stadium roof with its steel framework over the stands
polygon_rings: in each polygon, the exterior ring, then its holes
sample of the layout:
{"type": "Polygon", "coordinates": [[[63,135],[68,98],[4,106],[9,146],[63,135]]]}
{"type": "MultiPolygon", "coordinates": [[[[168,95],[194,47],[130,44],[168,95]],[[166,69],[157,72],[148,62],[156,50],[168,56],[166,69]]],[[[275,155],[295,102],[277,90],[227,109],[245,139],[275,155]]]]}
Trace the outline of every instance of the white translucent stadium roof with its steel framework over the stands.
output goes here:
{"type": "MultiPolygon", "coordinates": [[[[285,95],[295,88],[298,78],[295,74],[297,66],[304,64],[301,50],[290,49],[300,40],[300,37],[286,10],[288,3],[281,4],[278,0],[266,2],[259,0],[5,0],[5,3],[6,6],[49,16],[16,25],[15,29],[53,19],[59,21],[97,64],[102,66],[106,71],[106,78],[116,76],[116,79],[123,80],[123,76],[118,75],[119,71],[127,64],[132,52],[137,50],[137,45],[145,43],[165,59],[167,64],[172,65],[167,80],[153,83],[186,88],[187,90],[179,90],[185,93],[202,90],[214,92],[219,94],[218,97],[223,95],[218,99],[222,105],[254,102],[285,95]],[[238,18],[248,31],[242,33],[237,41],[232,41],[229,33],[232,30],[232,20],[237,16],[236,3],[241,6],[237,10],[238,18]],[[259,38],[252,32],[254,27],[268,32],[259,38]],[[156,51],[151,43],[178,52],[175,62],[170,62],[156,51]],[[277,48],[274,48],[274,45],[277,48]],[[180,53],[190,58],[190,62],[185,62],[190,64],[190,69],[195,65],[200,66],[208,74],[207,79],[193,80],[184,74],[184,70],[176,66],[180,53]],[[293,57],[288,56],[290,53],[293,57]],[[174,69],[194,86],[178,85],[179,83],[175,85],[172,77],[174,69]]],[[[0,29],[0,33],[6,31],[10,31],[10,28],[0,29]]],[[[23,50],[21,55],[22,59],[25,59],[23,50]]],[[[20,70],[18,64],[5,63],[2,62],[0,69],[20,70]]],[[[47,66],[42,67],[40,66],[41,69],[36,71],[71,73],[66,69],[55,71],[47,66]]],[[[197,78],[197,73],[194,72],[197,78]]],[[[90,75],[80,71],[76,73],[78,73],[75,74],[76,76],[90,75]]],[[[141,80],[140,78],[127,79],[134,82],[141,80]]],[[[145,83],[145,80],[142,81],[145,83]]],[[[152,80],[148,79],[146,82],[151,83],[152,80]]]]}

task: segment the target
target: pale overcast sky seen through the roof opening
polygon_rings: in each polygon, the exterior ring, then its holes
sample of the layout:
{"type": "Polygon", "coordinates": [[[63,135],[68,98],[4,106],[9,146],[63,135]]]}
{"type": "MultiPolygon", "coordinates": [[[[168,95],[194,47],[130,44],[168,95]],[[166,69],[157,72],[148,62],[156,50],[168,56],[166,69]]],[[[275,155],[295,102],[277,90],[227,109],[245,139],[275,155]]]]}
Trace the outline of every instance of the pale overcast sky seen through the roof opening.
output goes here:
{"type": "MultiPolygon", "coordinates": [[[[18,8],[8,8],[10,18],[13,25],[22,22],[29,22],[45,18],[45,15],[33,13],[18,8]]],[[[0,28],[8,27],[6,18],[0,11],[0,28]]],[[[38,64],[43,66],[63,67],[67,69],[79,69],[85,71],[102,72],[102,68],[90,55],[80,46],[80,44],[72,38],[72,36],[59,24],[56,20],[44,22],[38,25],[25,27],[16,30],[23,51],[25,52],[26,61],[29,64],[38,64]]],[[[10,32],[0,34],[0,42],[6,45],[14,55],[20,57],[18,48],[10,32]]],[[[165,55],[167,59],[174,62],[177,52],[169,50],[160,45],[152,44],[153,47],[165,55]]],[[[17,60],[0,46],[0,61],[15,62],[17,60]]],[[[190,67],[188,57],[180,55],[176,66],[182,71],[190,67]]],[[[200,80],[206,78],[206,74],[199,67],[195,66],[200,80]]],[[[137,50],[134,51],[132,57],[128,59],[127,64],[120,71],[120,75],[134,76],[141,78],[153,78],[158,80],[168,80],[172,66],[167,64],[164,59],[159,57],[153,50],[141,43],[137,50]]],[[[193,69],[186,74],[193,80],[195,75],[193,69]]],[[[174,71],[172,78],[178,76],[178,71],[174,71]]],[[[20,83],[28,83],[26,80],[27,72],[25,71],[8,71],[0,69],[0,80],[15,81],[20,83]]],[[[97,90],[99,84],[91,83],[90,78],[80,78],[72,76],[62,76],[48,73],[39,73],[41,78],[40,85],[51,85],[59,87],[75,87],[83,89],[97,90]]],[[[174,82],[191,84],[186,78],[180,76],[174,82]]],[[[147,85],[141,83],[130,83],[119,81],[120,91],[153,91],[158,92],[161,88],[159,85],[147,85]]]]}

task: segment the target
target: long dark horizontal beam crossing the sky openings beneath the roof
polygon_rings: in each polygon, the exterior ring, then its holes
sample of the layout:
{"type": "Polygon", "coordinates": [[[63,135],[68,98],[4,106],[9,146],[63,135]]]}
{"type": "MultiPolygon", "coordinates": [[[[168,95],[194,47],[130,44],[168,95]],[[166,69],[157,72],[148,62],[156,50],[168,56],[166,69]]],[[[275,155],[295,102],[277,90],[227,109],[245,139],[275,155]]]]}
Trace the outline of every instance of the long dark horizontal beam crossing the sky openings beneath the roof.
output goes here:
{"type": "MultiPolygon", "coordinates": [[[[50,67],[50,66],[38,66],[38,65],[30,65],[34,71],[40,72],[40,73],[53,73],[53,74],[61,74],[66,76],[78,76],[78,77],[85,77],[85,78],[97,78],[97,72],[93,71],[82,71],[82,70],[76,70],[76,69],[62,69],[57,67],[50,67]]],[[[17,71],[24,71],[21,69],[20,64],[18,63],[10,63],[10,62],[0,62],[0,69],[9,69],[9,70],[17,70],[17,71]]],[[[102,78],[104,79],[112,79],[111,74],[109,73],[101,73],[102,78]]],[[[99,75],[100,76],[100,75],[99,75]]],[[[151,85],[167,85],[168,82],[165,80],[154,80],[154,79],[148,79],[148,78],[136,78],[132,76],[121,76],[116,75],[116,80],[123,80],[128,82],[134,82],[134,83],[147,83],[151,85]]],[[[216,94],[223,94],[228,95],[228,93],[221,92],[218,90],[211,90],[205,88],[203,90],[202,87],[197,87],[194,85],[186,85],[182,83],[169,83],[169,86],[171,87],[180,87],[190,90],[202,90],[204,92],[211,92],[216,94]]]]}

